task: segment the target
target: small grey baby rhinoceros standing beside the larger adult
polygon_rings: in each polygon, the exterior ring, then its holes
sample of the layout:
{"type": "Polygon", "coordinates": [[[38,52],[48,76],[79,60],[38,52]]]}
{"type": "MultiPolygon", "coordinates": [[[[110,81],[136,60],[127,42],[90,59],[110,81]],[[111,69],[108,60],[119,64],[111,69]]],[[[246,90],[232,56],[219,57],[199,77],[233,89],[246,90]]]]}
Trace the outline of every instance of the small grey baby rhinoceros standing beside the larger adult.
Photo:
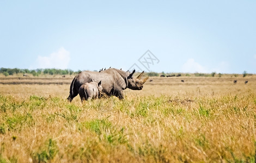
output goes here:
{"type": "Polygon", "coordinates": [[[98,98],[102,92],[101,81],[99,83],[93,81],[90,83],[84,83],[81,85],[78,92],[82,102],[84,100],[98,98]]]}

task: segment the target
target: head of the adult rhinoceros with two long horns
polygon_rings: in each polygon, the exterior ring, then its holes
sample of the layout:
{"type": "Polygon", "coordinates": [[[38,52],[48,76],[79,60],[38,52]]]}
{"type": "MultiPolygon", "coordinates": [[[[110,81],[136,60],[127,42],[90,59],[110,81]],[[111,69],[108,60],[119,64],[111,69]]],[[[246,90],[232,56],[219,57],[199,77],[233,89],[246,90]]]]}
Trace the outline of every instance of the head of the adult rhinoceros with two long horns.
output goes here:
{"type": "Polygon", "coordinates": [[[131,90],[142,90],[143,84],[148,80],[149,77],[142,80],[141,77],[144,71],[141,74],[139,74],[137,78],[133,77],[133,73],[135,73],[135,70],[133,70],[132,73],[130,73],[130,75],[127,77],[127,81],[128,81],[127,87],[131,90]]]}

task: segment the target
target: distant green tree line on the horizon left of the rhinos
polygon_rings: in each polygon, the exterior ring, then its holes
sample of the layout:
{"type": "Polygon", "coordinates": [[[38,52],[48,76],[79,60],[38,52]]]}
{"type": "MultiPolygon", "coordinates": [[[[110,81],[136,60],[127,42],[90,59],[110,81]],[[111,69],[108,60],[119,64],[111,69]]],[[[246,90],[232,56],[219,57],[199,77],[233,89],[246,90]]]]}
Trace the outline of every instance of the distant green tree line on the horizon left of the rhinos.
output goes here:
{"type": "Polygon", "coordinates": [[[0,73],[4,74],[4,76],[9,76],[13,74],[23,73],[23,74],[32,74],[33,76],[39,76],[40,74],[50,74],[50,75],[68,75],[68,74],[76,74],[80,71],[72,71],[69,69],[60,70],[56,68],[38,68],[36,70],[28,70],[28,69],[20,69],[20,68],[0,68],[0,73]]]}

